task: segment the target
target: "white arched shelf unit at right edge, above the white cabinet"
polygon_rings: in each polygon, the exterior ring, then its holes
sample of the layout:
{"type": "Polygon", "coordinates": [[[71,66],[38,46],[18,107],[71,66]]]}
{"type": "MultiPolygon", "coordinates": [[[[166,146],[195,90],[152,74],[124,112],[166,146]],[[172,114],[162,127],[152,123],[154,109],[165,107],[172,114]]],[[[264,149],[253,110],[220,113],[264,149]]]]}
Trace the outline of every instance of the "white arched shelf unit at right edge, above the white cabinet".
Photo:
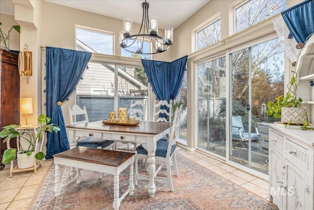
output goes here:
{"type": "Polygon", "coordinates": [[[314,35],[312,35],[300,52],[296,63],[297,73],[297,98],[301,97],[304,107],[309,108],[309,121],[314,123],[314,86],[310,81],[314,81],[314,35]]]}

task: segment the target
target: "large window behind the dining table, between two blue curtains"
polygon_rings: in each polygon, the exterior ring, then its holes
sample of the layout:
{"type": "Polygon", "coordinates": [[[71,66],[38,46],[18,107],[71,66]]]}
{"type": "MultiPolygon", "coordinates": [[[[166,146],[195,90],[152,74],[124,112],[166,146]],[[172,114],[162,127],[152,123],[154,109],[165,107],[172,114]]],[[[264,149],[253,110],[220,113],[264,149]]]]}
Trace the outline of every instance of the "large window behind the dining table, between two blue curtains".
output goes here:
{"type": "MultiPolygon", "coordinates": [[[[90,122],[108,119],[108,112],[116,107],[130,109],[131,100],[147,100],[150,93],[147,76],[138,67],[90,61],[82,78],[77,104],[85,105],[90,122]]],[[[145,116],[147,120],[147,113],[145,116]]]]}

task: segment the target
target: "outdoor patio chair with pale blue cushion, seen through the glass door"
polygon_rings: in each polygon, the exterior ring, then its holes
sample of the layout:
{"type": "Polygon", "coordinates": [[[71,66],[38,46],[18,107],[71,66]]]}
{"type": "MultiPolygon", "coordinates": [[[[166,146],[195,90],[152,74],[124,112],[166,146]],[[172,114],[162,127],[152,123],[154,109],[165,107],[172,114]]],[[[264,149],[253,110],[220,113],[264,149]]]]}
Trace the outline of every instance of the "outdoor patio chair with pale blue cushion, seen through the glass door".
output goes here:
{"type": "MultiPolygon", "coordinates": [[[[235,148],[247,150],[249,146],[245,143],[249,140],[249,133],[244,130],[241,116],[232,117],[232,139],[236,140],[235,148]],[[238,143],[240,142],[240,146],[238,143]]],[[[258,133],[251,133],[251,140],[259,140],[258,133]]],[[[251,149],[254,149],[251,146],[251,149]]]]}

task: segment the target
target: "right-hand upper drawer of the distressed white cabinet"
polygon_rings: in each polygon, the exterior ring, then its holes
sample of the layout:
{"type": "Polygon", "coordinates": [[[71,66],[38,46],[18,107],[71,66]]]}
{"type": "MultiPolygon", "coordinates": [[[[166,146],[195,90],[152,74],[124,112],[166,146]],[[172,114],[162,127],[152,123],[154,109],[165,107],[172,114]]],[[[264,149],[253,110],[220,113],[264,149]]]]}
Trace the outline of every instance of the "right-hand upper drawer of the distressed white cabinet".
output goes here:
{"type": "Polygon", "coordinates": [[[292,142],[289,139],[285,141],[285,154],[286,157],[295,165],[302,165],[309,169],[309,151],[304,147],[292,142]]]}

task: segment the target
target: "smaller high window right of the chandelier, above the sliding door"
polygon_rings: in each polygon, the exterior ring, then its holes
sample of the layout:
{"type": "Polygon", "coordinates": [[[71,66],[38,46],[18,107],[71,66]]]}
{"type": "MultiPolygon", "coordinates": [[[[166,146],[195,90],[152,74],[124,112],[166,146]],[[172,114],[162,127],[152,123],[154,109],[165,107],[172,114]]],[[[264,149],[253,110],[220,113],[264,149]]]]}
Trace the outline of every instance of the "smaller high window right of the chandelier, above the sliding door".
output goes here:
{"type": "Polygon", "coordinates": [[[196,50],[201,50],[221,40],[220,19],[200,30],[196,34],[196,50]]]}

